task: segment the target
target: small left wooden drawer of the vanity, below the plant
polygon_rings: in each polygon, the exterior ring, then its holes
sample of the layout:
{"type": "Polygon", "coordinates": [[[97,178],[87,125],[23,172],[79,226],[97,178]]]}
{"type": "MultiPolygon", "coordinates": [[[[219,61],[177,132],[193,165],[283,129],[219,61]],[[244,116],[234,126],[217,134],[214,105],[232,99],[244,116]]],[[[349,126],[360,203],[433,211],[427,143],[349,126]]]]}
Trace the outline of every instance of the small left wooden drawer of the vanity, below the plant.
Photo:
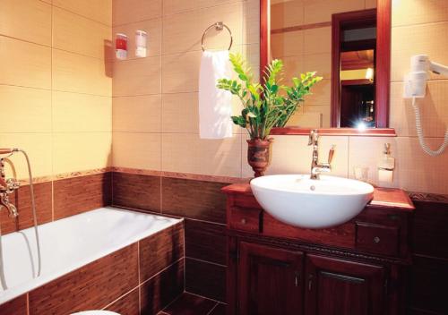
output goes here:
{"type": "Polygon", "coordinates": [[[235,230],[258,233],[261,212],[261,209],[231,207],[228,226],[235,230]]]}

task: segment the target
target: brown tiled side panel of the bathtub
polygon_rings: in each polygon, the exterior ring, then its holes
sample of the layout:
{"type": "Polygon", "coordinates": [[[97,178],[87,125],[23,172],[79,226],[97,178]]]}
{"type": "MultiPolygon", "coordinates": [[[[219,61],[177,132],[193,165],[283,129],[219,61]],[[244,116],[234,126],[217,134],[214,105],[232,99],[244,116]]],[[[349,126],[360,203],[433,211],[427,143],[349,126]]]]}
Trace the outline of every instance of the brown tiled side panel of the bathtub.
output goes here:
{"type": "Polygon", "coordinates": [[[0,313],[156,314],[184,291],[184,264],[181,222],[0,305],[0,313]]]}

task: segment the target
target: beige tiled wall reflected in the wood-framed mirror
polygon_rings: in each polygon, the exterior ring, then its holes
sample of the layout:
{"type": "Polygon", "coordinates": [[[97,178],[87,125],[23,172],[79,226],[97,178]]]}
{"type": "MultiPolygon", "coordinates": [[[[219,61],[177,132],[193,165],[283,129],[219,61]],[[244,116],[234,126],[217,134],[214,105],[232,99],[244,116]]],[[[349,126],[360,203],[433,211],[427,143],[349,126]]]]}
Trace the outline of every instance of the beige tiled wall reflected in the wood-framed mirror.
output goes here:
{"type": "Polygon", "coordinates": [[[375,8],[372,0],[271,2],[271,55],[285,64],[285,82],[298,73],[317,72],[323,81],[288,125],[330,128],[332,14],[375,8]],[[295,31],[280,31],[299,27],[295,31]]]}

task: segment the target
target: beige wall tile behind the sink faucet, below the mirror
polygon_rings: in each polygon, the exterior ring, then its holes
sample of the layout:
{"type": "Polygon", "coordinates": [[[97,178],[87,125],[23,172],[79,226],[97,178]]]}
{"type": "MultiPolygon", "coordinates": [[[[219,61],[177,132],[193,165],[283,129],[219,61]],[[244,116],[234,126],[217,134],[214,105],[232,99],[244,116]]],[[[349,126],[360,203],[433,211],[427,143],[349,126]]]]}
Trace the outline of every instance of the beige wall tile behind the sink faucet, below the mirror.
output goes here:
{"type": "MultiPolygon", "coordinates": [[[[308,146],[308,136],[274,136],[272,162],[267,174],[309,174],[313,149],[308,146]]],[[[336,145],[332,161],[333,176],[348,176],[348,137],[320,137],[319,153],[326,162],[331,146],[336,145]]]]}

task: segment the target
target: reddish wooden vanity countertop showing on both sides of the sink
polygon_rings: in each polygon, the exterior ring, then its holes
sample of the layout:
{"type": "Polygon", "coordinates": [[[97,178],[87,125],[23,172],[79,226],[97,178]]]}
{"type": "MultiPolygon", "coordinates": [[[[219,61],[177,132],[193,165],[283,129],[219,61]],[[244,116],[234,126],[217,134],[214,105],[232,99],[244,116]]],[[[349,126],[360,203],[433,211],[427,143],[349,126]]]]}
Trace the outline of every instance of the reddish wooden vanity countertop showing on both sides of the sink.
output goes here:
{"type": "MultiPolygon", "coordinates": [[[[249,183],[233,183],[221,189],[226,194],[248,195],[252,196],[252,190],[249,183]]],[[[367,204],[367,207],[401,209],[403,211],[412,211],[415,209],[408,194],[398,188],[375,187],[374,199],[367,204]]]]}

